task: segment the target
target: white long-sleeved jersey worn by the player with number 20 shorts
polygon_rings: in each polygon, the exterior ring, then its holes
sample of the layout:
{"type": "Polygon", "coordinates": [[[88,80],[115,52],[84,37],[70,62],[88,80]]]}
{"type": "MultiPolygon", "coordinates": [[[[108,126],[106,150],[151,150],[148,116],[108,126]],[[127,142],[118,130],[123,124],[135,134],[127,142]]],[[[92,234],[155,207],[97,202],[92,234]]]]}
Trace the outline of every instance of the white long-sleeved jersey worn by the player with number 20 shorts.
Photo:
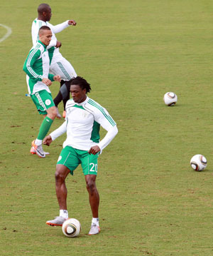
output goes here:
{"type": "Polygon", "coordinates": [[[82,103],[75,103],[72,99],[66,104],[66,121],[50,136],[53,140],[67,131],[67,139],[63,143],[79,150],[89,150],[94,145],[99,145],[103,150],[118,132],[115,121],[105,108],[91,98],[82,103]],[[99,129],[102,126],[107,130],[107,135],[99,141],[99,129]]]}

